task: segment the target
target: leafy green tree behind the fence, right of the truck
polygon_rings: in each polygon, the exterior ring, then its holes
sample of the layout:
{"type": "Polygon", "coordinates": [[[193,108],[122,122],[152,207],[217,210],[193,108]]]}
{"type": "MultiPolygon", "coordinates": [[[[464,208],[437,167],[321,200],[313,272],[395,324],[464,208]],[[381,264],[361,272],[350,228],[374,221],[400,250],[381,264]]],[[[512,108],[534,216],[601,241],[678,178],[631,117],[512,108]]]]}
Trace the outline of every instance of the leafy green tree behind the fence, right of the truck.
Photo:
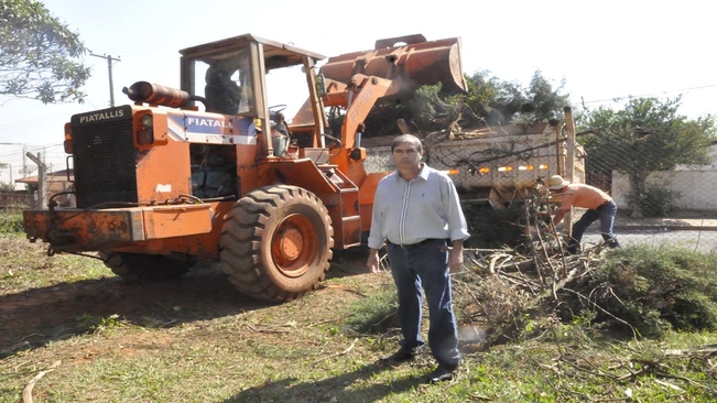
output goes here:
{"type": "MultiPolygon", "coordinates": [[[[624,173],[631,195],[640,196],[645,193],[652,172],[671,171],[677,164],[709,163],[708,145],[715,139],[714,117],[688,120],[677,113],[680,105],[680,97],[664,101],[633,98],[622,110],[600,107],[586,112],[578,130],[599,130],[580,139],[587,152],[586,170],[624,173]]],[[[638,204],[630,207],[633,216],[642,216],[638,204]]]]}

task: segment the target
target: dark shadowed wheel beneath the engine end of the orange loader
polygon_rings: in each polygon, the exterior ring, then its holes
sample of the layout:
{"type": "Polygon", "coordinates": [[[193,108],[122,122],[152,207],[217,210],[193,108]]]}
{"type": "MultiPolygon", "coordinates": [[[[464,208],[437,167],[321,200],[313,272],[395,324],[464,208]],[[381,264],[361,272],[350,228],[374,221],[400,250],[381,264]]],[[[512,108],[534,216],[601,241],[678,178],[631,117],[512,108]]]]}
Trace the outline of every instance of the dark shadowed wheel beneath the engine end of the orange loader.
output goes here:
{"type": "Polygon", "coordinates": [[[174,280],[186,274],[192,266],[188,261],[180,261],[160,254],[100,251],[99,257],[112,273],[129,282],[174,280]]]}

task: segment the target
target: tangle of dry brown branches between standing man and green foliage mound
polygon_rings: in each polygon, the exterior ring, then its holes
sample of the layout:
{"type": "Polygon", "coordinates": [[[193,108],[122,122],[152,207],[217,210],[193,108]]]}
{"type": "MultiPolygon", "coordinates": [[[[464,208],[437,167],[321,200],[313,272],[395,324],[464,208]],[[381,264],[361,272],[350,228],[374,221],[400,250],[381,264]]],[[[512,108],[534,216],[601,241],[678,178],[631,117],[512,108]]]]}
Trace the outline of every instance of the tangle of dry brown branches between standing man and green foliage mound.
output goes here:
{"type": "Polygon", "coordinates": [[[454,275],[454,287],[463,294],[458,308],[472,330],[461,339],[472,349],[485,350],[571,322],[585,309],[599,312],[601,320],[639,337],[640,329],[605,308],[620,301],[595,273],[607,243],[571,254],[566,237],[552,225],[546,194],[537,190],[522,208],[519,244],[465,249],[467,270],[454,275]]]}

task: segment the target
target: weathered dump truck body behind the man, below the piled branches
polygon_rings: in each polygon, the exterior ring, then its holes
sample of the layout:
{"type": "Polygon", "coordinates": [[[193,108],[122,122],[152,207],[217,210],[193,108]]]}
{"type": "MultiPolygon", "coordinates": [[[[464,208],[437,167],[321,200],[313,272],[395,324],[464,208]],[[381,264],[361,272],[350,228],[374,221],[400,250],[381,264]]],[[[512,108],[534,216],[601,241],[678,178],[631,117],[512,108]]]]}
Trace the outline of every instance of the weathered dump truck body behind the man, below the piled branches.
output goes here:
{"type": "MultiPolygon", "coordinates": [[[[585,150],[576,142],[571,108],[564,111],[562,121],[432,133],[423,140],[427,163],[448,173],[464,204],[489,204],[497,209],[544,189],[552,175],[585,183],[585,150]]],[[[400,128],[406,131],[405,124],[400,128]]],[[[368,172],[395,168],[392,139],[366,139],[368,172]]]]}

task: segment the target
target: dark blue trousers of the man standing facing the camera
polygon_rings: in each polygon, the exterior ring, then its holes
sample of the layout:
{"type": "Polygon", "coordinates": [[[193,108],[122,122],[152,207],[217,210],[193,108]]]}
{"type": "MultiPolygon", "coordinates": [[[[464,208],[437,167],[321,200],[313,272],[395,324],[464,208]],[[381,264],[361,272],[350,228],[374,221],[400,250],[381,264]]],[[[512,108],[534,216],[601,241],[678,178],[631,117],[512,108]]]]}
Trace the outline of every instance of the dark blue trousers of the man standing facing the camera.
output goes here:
{"type": "Polygon", "coordinates": [[[399,295],[401,349],[423,346],[421,337],[422,288],[428,302],[428,346],[438,364],[455,367],[460,361],[458,328],[453,313],[446,241],[435,239],[412,247],[389,243],[391,274],[399,295]]]}

